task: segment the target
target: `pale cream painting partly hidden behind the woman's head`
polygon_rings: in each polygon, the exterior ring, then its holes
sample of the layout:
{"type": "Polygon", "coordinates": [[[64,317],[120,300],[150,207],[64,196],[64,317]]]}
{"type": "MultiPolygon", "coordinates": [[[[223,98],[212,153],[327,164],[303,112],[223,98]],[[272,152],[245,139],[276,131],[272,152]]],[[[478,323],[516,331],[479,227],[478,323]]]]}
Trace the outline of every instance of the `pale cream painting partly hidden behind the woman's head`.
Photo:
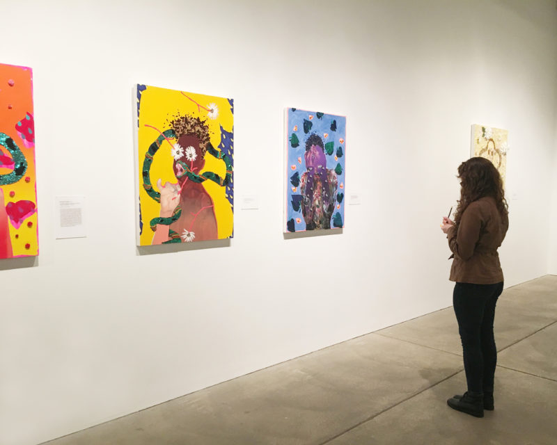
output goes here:
{"type": "Polygon", "coordinates": [[[492,161],[503,179],[505,186],[505,172],[507,170],[508,130],[472,125],[471,156],[481,156],[492,161]]]}

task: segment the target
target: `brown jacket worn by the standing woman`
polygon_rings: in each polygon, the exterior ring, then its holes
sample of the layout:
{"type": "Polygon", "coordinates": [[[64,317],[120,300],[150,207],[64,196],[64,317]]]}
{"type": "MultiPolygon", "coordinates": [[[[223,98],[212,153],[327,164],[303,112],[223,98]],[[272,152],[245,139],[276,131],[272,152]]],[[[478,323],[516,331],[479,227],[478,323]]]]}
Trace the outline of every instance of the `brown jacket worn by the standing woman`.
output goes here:
{"type": "Polygon", "coordinates": [[[501,218],[492,197],[482,197],[469,204],[458,231],[450,227],[447,232],[448,246],[453,252],[449,280],[473,284],[502,282],[497,248],[508,228],[508,218],[501,218]]]}

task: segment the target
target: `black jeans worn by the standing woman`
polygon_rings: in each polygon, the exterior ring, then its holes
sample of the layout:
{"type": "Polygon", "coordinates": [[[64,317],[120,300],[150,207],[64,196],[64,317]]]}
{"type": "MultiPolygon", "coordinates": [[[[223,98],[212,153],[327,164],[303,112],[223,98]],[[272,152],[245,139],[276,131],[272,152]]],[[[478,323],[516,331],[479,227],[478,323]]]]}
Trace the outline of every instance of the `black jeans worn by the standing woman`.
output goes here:
{"type": "Polygon", "coordinates": [[[496,284],[456,283],[453,307],[462,341],[468,391],[493,392],[497,350],[493,321],[503,282],[496,284]]]}

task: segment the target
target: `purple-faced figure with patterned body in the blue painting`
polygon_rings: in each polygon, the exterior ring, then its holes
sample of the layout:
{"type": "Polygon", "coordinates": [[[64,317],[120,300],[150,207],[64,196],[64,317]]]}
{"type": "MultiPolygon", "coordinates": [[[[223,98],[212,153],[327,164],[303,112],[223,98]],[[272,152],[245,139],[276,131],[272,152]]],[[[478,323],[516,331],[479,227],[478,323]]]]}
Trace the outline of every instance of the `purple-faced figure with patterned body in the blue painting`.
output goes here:
{"type": "Polygon", "coordinates": [[[306,140],[306,172],[301,175],[301,213],[306,230],[330,229],[335,209],[338,180],[334,170],[327,169],[323,140],[312,134],[306,140]]]}

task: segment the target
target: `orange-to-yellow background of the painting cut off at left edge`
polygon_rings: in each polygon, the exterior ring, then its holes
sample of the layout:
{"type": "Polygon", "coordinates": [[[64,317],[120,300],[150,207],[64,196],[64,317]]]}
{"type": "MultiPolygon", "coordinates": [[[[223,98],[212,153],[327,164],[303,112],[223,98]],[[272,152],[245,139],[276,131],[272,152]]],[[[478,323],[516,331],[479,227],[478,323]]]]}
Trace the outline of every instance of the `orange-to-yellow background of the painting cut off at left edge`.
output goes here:
{"type": "MultiPolygon", "coordinates": [[[[27,112],[33,115],[34,118],[32,79],[33,72],[31,68],[0,64],[0,131],[6,133],[14,140],[27,160],[27,170],[22,179],[19,179],[15,184],[0,186],[4,194],[4,205],[8,205],[8,202],[20,200],[29,200],[37,204],[35,147],[34,145],[30,148],[25,147],[22,138],[19,137],[15,130],[15,125],[20,120],[25,119],[27,112]],[[15,82],[13,86],[8,85],[9,79],[13,79],[15,82]],[[11,105],[12,108],[9,109],[8,105],[11,105]],[[31,181],[26,182],[26,177],[29,177],[31,181]],[[14,197],[10,197],[11,191],[15,192],[14,197]]],[[[33,133],[34,131],[33,129],[33,133]]],[[[5,147],[0,147],[0,149],[4,155],[10,156],[5,147]]],[[[6,175],[11,171],[11,168],[0,167],[0,175],[6,175]]],[[[10,227],[13,256],[37,255],[37,212],[26,218],[19,229],[15,229],[12,223],[8,223],[8,225],[10,227]],[[32,227],[27,227],[29,222],[33,224],[32,227]],[[16,234],[19,235],[18,238],[15,238],[16,234]],[[29,249],[25,248],[26,243],[31,245],[29,249]]]]}

